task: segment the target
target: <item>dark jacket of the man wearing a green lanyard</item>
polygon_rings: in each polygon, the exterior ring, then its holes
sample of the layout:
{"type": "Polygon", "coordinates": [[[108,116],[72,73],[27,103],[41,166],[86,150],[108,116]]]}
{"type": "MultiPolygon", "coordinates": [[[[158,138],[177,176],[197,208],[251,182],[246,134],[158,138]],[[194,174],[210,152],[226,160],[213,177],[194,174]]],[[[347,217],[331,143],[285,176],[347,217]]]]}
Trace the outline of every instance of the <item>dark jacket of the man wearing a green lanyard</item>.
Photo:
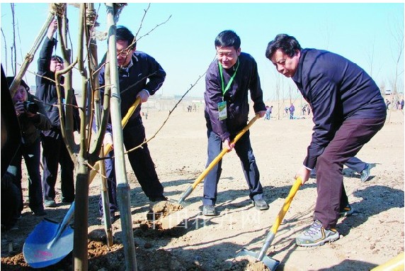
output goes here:
{"type": "MultiPolygon", "coordinates": [[[[239,67],[234,81],[224,95],[222,95],[222,80],[217,60],[210,64],[205,75],[204,99],[207,128],[212,129],[222,141],[229,138],[230,135],[235,135],[246,126],[249,115],[249,90],[253,101],[253,110],[256,113],[266,111],[256,61],[246,52],[241,52],[238,58],[239,67]],[[227,101],[227,119],[219,121],[218,103],[222,101],[222,98],[227,101]]],[[[230,69],[222,70],[225,86],[234,74],[236,65],[230,69]]]]}

